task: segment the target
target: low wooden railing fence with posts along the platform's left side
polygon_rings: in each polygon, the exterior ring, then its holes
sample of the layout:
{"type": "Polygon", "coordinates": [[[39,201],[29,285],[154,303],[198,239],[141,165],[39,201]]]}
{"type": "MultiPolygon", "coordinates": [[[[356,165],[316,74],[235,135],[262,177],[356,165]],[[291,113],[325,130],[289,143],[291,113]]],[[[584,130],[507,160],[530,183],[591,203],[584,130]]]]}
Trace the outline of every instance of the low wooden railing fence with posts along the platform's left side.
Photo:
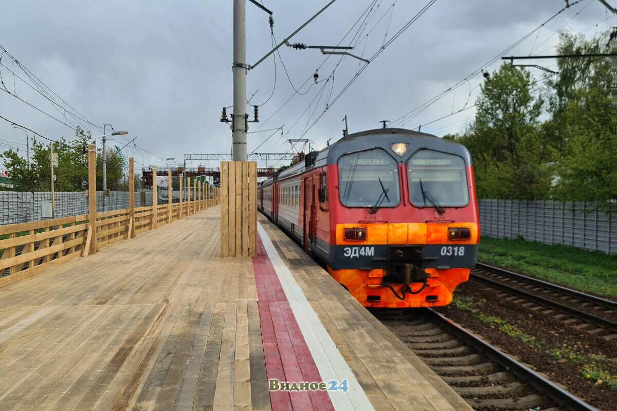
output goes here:
{"type": "MultiPolygon", "coordinates": [[[[132,169],[133,159],[129,160],[132,169]]],[[[133,184],[129,189],[133,189],[133,184]]],[[[0,287],[220,203],[217,187],[207,185],[201,195],[199,190],[196,192],[193,201],[156,205],[154,191],[155,205],[135,208],[135,202],[130,201],[130,208],[93,214],[94,225],[89,214],[83,214],[0,226],[0,238],[4,238],[0,240],[0,287]]],[[[129,198],[134,198],[133,193],[129,198]]],[[[171,196],[168,198],[172,200],[171,196]]],[[[96,210],[96,199],[92,205],[96,210]]]]}

